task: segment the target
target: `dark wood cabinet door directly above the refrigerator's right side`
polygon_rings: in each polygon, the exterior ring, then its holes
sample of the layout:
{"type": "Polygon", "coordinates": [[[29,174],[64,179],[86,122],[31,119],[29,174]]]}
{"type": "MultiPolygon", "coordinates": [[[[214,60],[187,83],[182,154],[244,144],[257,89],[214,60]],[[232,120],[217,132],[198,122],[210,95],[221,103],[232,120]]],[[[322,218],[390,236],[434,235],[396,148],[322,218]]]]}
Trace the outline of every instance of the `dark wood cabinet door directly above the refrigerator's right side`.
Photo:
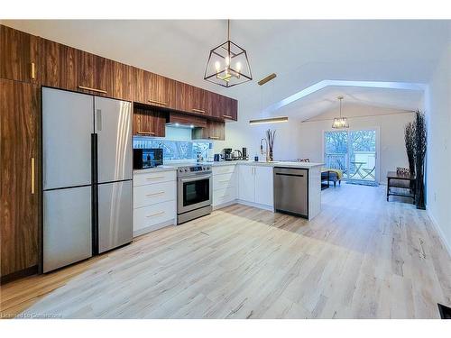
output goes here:
{"type": "Polygon", "coordinates": [[[78,90],[97,96],[113,96],[114,61],[78,51],[78,90]]]}

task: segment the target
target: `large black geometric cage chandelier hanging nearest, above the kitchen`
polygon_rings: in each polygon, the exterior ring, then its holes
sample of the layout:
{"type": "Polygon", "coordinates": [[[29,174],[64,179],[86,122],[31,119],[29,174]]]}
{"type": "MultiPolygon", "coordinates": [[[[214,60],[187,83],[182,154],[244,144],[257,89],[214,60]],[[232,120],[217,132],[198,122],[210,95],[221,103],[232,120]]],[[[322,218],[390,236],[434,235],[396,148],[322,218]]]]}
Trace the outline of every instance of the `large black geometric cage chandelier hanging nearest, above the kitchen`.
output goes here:
{"type": "Polygon", "coordinates": [[[230,41],[230,20],[227,41],[210,50],[204,79],[222,87],[234,87],[253,79],[246,51],[230,41]]]}

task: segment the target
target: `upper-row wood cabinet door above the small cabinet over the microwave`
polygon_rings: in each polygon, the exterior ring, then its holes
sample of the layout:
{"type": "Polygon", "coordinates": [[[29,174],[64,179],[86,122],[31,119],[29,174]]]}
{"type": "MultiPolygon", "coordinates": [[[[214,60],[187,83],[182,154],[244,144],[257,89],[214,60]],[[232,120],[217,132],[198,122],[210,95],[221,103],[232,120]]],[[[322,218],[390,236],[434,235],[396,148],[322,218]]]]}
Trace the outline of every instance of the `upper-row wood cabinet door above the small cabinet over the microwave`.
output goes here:
{"type": "Polygon", "coordinates": [[[134,101],[179,110],[177,91],[177,81],[143,69],[134,69],[134,101]]]}

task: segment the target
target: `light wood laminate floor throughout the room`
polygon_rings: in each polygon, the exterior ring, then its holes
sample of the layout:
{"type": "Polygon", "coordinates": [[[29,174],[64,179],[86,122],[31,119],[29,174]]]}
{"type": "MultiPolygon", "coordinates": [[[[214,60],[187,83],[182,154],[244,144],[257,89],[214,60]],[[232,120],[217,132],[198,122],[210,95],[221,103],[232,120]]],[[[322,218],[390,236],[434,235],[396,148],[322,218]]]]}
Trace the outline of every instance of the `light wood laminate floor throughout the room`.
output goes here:
{"type": "Polygon", "coordinates": [[[250,206],[1,288],[4,317],[438,318],[451,260],[424,211],[384,187],[323,192],[313,221],[250,206]]]}

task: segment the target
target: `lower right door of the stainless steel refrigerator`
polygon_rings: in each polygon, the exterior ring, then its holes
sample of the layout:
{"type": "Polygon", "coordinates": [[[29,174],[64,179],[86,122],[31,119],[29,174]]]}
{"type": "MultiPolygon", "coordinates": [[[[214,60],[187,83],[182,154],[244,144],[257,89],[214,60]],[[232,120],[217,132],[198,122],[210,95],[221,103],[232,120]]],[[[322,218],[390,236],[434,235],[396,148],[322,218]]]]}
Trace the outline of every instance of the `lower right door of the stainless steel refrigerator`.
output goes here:
{"type": "Polygon", "coordinates": [[[98,252],[132,242],[131,180],[98,185],[98,252]]]}

